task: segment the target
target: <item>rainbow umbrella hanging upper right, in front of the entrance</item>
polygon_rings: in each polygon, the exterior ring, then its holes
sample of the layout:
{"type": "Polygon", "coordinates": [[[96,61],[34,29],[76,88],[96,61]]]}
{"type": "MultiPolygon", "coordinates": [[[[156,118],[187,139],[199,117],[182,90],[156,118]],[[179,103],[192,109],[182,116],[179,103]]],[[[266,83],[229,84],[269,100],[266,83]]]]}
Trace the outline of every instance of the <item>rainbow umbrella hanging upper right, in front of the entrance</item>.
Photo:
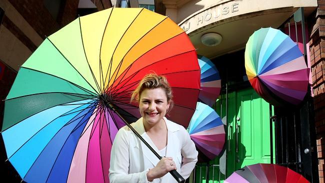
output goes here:
{"type": "Polygon", "coordinates": [[[261,28],[248,39],[245,68],[255,91],[273,105],[298,104],[308,86],[309,70],[296,43],[274,28],[261,28]]]}

